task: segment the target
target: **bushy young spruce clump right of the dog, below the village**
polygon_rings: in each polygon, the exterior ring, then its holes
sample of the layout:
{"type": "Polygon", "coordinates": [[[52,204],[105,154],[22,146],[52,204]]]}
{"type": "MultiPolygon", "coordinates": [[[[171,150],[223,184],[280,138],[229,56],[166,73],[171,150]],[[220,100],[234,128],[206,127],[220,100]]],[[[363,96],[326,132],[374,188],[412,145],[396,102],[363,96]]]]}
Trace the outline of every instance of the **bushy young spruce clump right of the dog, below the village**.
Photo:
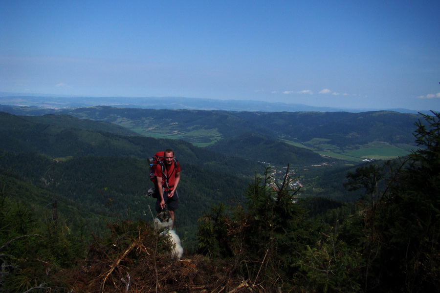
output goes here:
{"type": "Polygon", "coordinates": [[[301,251],[316,243],[322,230],[297,203],[299,189],[293,182],[288,167],[281,182],[266,168],[264,177],[256,176],[249,184],[245,205],[228,213],[215,207],[200,219],[200,251],[232,258],[234,271],[253,284],[270,290],[282,284],[289,288],[301,251]]]}

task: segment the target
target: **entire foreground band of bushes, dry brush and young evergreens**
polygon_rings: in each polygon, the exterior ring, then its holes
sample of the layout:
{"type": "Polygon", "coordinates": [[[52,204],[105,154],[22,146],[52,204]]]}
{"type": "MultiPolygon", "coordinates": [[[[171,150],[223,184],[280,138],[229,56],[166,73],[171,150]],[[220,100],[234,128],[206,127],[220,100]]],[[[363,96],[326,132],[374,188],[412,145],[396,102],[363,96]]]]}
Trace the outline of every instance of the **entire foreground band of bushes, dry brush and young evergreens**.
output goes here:
{"type": "Polygon", "coordinates": [[[440,114],[433,114],[417,124],[420,149],[400,164],[347,174],[346,187],[363,191],[359,201],[311,215],[288,172],[276,182],[266,171],[245,201],[199,219],[198,254],[178,262],[148,222],[113,223],[87,242],[56,214],[11,200],[20,187],[2,183],[0,291],[439,292],[440,114]]]}

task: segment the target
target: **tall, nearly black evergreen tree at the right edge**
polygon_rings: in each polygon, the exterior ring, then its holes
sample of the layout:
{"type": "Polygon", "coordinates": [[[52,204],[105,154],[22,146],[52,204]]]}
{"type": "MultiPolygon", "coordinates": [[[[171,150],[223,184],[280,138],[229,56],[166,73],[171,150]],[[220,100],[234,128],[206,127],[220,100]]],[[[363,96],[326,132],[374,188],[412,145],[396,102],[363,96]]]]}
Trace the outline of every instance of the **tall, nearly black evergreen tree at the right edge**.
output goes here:
{"type": "Polygon", "coordinates": [[[390,290],[440,292],[440,113],[432,113],[423,115],[427,124],[416,123],[420,148],[390,184],[382,209],[381,264],[390,290]]]}

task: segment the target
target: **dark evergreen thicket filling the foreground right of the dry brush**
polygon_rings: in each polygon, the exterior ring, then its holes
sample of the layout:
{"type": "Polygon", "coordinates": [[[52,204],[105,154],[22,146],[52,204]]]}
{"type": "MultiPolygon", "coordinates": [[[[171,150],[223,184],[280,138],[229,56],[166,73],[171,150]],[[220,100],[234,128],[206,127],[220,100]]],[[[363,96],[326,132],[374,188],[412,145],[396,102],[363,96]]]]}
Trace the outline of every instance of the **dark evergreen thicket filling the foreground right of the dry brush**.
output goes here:
{"type": "Polygon", "coordinates": [[[347,174],[347,188],[363,189],[355,204],[310,217],[290,178],[257,178],[246,207],[201,219],[201,251],[268,292],[439,292],[440,114],[424,118],[405,161],[347,174]]]}

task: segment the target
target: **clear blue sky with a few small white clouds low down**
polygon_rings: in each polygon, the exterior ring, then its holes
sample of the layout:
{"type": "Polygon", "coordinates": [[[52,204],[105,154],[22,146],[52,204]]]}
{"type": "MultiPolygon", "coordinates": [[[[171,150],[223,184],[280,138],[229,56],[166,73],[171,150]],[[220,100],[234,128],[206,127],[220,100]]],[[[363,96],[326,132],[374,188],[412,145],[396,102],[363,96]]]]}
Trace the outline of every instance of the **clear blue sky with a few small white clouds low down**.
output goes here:
{"type": "Polygon", "coordinates": [[[0,91],[440,110],[438,0],[0,0],[0,91]]]}

